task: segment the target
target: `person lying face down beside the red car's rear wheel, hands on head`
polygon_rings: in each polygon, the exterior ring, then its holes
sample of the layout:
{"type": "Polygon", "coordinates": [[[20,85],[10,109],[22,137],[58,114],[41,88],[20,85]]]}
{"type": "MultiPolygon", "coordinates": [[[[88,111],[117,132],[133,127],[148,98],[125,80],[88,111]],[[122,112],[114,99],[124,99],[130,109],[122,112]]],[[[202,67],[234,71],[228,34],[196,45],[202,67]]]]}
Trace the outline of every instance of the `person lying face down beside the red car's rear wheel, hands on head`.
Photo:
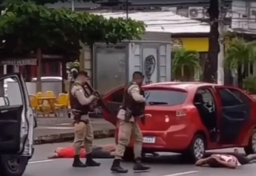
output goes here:
{"type": "Polygon", "coordinates": [[[210,157],[199,159],[196,161],[195,165],[235,169],[237,166],[253,163],[254,160],[256,160],[256,154],[244,156],[235,149],[232,154],[212,154],[210,157]]]}

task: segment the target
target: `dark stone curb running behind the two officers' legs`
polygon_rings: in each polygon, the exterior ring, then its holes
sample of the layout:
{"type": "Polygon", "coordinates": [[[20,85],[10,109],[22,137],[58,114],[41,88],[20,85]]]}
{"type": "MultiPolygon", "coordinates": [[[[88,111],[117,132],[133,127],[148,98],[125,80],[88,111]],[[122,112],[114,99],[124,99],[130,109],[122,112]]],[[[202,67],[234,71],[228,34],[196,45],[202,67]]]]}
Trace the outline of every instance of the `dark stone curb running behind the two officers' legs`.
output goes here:
{"type": "MultiPolygon", "coordinates": [[[[101,139],[107,137],[114,137],[116,129],[103,129],[93,131],[94,139],[101,139]]],[[[61,133],[53,135],[37,136],[34,139],[34,145],[45,143],[62,143],[73,141],[75,137],[74,133],[61,133]]]]}

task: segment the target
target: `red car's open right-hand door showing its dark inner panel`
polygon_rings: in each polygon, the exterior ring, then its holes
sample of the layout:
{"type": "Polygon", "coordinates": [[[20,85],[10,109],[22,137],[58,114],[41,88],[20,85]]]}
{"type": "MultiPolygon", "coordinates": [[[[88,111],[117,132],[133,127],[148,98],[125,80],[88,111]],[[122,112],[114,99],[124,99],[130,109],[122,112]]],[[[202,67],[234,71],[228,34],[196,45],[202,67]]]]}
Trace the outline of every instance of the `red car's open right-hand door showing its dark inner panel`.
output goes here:
{"type": "Polygon", "coordinates": [[[218,130],[219,142],[235,144],[245,125],[251,119],[251,99],[240,89],[229,86],[216,86],[220,99],[218,130]]]}

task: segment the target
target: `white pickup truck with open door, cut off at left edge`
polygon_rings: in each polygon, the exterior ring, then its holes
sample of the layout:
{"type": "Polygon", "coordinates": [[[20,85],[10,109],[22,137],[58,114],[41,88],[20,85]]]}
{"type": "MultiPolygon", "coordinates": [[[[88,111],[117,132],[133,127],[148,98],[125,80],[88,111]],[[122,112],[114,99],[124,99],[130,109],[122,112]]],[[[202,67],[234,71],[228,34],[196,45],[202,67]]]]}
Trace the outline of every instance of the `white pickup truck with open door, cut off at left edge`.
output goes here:
{"type": "Polygon", "coordinates": [[[26,84],[20,73],[0,77],[0,90],[4,83],[13,79],[20,93],[14,94],[17,101],[10,104],[12,92],[0,91],[0,175],[21,176],[28,160],[34,153],[33,133],[36,119],[30,106],[26,84]]]}

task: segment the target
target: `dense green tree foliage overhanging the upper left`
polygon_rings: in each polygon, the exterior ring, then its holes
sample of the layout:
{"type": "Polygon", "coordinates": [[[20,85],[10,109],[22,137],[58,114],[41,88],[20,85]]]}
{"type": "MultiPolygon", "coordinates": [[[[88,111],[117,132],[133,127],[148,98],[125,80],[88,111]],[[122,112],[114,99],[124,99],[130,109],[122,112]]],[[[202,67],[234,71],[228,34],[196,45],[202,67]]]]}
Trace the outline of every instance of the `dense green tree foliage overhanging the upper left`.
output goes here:
{"type": "Polygon", "coordinates": [[[0,41],[5,41],[2,47],[16,51],[50,47],[66,51],[79,49],[80,41],[86,45],[116,43],[139,39],[144,32],[145,25],[141,21],[106,19],[64,8],[49,9],[30,1],[7,4],[0,18],[0,41]]]}

